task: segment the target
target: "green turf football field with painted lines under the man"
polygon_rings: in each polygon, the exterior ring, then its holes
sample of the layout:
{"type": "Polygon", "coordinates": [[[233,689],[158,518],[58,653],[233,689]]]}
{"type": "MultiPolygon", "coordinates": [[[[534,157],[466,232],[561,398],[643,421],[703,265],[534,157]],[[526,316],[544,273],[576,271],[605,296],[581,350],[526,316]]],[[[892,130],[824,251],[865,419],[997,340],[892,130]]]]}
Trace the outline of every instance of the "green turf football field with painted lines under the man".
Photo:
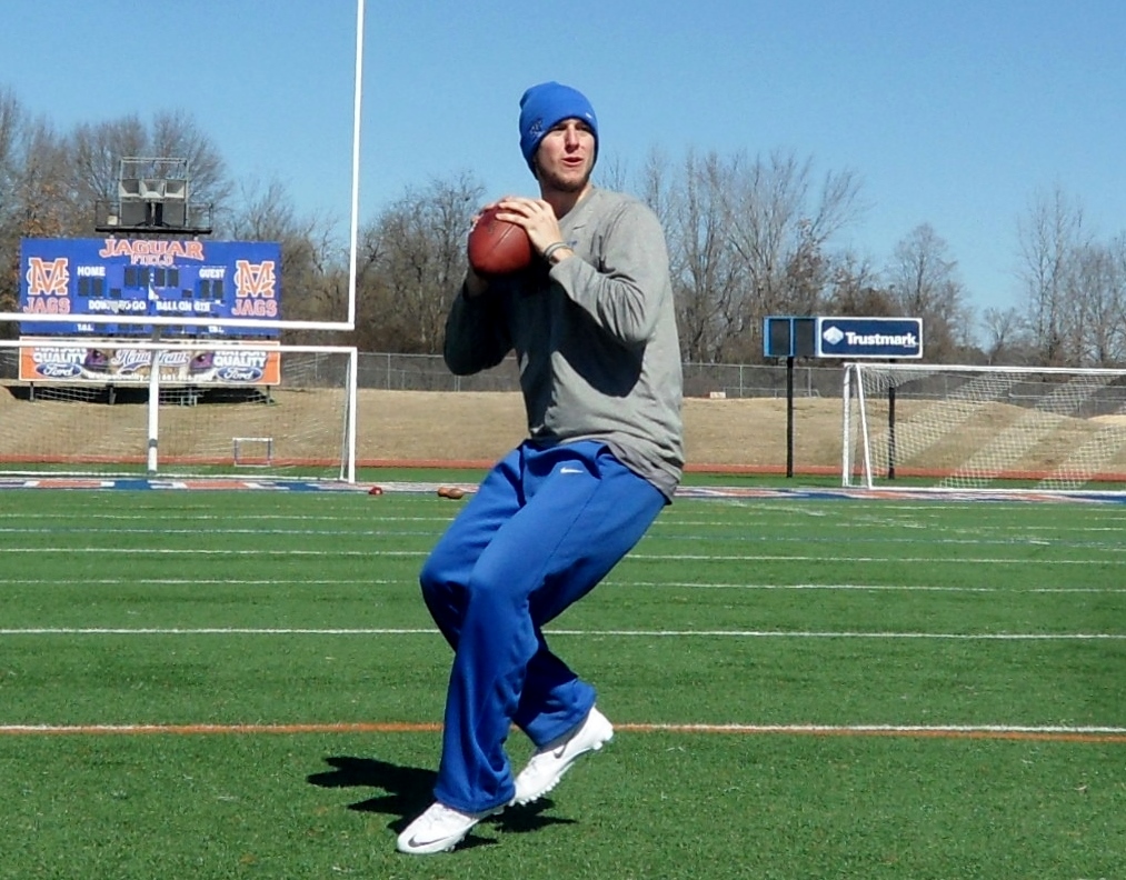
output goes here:
{"type": "Polygon", "coordinates": [[[551,628],[614,743],[395,853],[464,503],[0,492],[0,878],[1126,878],[1117,504],[678,501],[551,628]]]}

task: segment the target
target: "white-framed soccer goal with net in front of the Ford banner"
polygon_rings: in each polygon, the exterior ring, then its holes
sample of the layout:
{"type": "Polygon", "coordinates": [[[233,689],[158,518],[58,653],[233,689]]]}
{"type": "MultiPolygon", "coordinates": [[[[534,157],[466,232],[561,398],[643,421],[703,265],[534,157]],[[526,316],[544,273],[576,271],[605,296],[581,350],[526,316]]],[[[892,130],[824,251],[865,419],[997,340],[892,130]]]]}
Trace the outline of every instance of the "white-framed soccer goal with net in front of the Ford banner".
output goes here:
{"type": "Polygon", "coordinates": [[[355,481],[356,349],[0,341],[0,475],[355,481]]]}

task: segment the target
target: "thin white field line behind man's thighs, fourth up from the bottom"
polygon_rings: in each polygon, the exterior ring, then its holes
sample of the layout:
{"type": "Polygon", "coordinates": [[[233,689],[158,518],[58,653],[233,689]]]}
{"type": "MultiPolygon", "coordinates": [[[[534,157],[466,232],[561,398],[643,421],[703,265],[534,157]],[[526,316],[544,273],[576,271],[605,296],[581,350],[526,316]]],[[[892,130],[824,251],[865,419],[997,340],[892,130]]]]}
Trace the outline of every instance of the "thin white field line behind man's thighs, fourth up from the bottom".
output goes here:
{"type": "MultiPolygon", "coordinates": [[[[1116,554],[1126,554],[1126,547],[1099,547],[1088,548],[1107,550],[1116,554]]],[[[173,549],[170,547],[0,547],[0,554],[46,554],[46,553],[96,553],[117,555],[144,555],[144,556],[359,556],[359,557],[411,557],[421,558],[429,556],[429,550],[300,550],[300,549],[206,549],[191,547],[185,549],[173,549]]],[[[778,555],[707,555],[707,554],[631,554],[626,562],[692,562],[692,563],[815,563],[825,562],[824,556],[778,556],[778,555]]],[[[1120,565],[1126,564],[1126,559],[1021,559],[1015,557],[964,557],[959,559],[936,558],[933,556],[834,556],[837,563],[911,563],[919,565],[1120,565]]]]}

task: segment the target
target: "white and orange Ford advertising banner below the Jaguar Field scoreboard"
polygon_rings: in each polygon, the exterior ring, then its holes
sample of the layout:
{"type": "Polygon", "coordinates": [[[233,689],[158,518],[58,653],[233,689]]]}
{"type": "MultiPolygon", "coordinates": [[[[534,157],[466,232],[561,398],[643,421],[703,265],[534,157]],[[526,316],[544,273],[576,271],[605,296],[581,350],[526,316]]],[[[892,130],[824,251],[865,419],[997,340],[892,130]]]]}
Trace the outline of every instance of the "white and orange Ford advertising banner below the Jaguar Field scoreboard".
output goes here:
{"type": "MultiPolygon", "coordinates": [[[[25,338],[27,339],[27,338],[25,338]]],[[[161,385],[278,385],[282,352],[276,342],[248,341],[238,348],[198,347],[149,351],[122,347],[113,339],[32,339],[21,348],[20,381],[148,384],[158,354],[161,385]]]]}

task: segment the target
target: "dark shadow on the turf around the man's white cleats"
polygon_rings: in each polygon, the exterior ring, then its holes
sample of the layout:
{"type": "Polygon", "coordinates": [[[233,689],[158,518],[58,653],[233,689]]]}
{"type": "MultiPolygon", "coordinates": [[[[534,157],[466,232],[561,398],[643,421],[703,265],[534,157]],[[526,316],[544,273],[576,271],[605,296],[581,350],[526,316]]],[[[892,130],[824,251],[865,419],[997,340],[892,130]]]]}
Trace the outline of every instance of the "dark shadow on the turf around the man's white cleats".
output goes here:
{"type": "MultiPolygon", "coordinates": [[[[438,774],[432,770],[401,766],[374,757],[348,755],[332,755],[324,758],[324,763],[332,770],[310,774],[310,784],[325,789],[383,789],[384,794],[350,803],[348,809],[396,816],[397,818],[387,826],[396,834],[434,801],[431,792],[438,774]]],[[[535,803],[509,807],[503,812],[485,819],[483,824],[495,825],[506,834],[525,834],[548,825],[574,824],[574,819],[544,816],[544,810],[553,806],[554,802],[549,798],[542,798],[535,803]]],[[[461,846],[464,848],[488,843],[495,841],[482,839],[471,834],[461,846]]]]}

